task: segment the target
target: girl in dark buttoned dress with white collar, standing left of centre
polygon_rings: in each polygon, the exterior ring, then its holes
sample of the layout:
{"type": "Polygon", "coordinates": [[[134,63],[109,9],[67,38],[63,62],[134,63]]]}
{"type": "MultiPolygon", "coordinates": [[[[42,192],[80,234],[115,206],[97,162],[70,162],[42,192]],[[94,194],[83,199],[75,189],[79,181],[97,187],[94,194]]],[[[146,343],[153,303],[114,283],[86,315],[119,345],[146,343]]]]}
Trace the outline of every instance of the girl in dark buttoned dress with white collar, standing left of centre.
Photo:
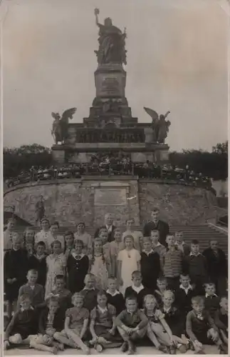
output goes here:
{"type": "Polygon", "coordinates": [[[89,258],[83,254],[83,241],[75,240],[75,250],[68,256],[68,288],[71,293],[81,291],[84,287],[85,276],[88,273],[89,258]]]}

